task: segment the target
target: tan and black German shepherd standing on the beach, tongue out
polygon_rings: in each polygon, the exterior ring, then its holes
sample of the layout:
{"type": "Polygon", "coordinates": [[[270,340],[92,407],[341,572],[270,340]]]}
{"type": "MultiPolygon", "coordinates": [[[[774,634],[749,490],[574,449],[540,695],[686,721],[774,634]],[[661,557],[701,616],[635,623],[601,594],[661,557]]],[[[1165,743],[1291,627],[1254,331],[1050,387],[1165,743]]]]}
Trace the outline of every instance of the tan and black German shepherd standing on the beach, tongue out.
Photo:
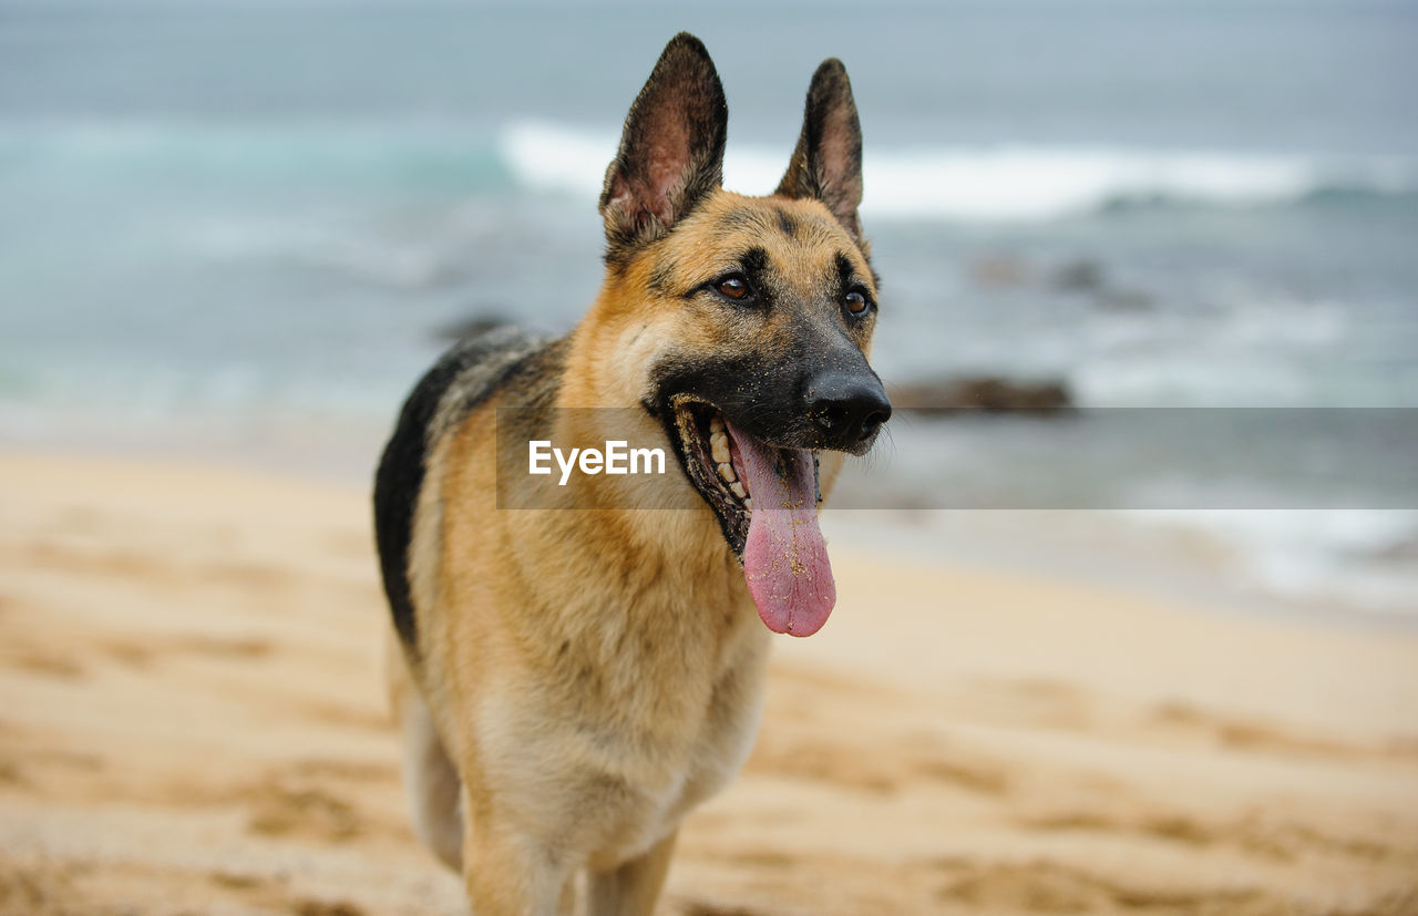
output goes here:
{"type": "Polygon", "coordinates": [[[767,197],[720,187],[726,122],[703,44],[675,37],[605,173],[588,315],[454,346],[379,467],[406,786],[478,916],[570,912],[579,875],[587,912],[649,913],[679,822],[753,744],[769,631],[810,635],[837,597],[818,502],[891,415],[847,71],[814,74],[767,197]],[[627,414],[686,508],[607,475],[567,484],[583,510],[499,508],[499,462],[621,438],[598,424],[627,414]]]}

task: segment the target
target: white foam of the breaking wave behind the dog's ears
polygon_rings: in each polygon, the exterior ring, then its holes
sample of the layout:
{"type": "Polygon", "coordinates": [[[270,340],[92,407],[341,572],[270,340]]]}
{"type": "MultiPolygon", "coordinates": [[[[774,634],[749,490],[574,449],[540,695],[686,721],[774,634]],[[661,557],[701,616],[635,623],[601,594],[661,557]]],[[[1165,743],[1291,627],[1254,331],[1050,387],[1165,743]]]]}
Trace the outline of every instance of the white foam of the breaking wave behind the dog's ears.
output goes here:
{"type": "MultiPolygon", "coordinates": [[[[530,190],[594,197],[615,136],[547,122],[503,128],[499,152],[530,190]]],[[[725,186],[773,190],[787,150],[730,143],[725,186]]],[[[881,149],[864,156],[869,218],[1039,221],[1127,203],[1273,206],[1324,191],[1411,194],[1418,163],[1299,155],[1046,146],[881,149]]]]}

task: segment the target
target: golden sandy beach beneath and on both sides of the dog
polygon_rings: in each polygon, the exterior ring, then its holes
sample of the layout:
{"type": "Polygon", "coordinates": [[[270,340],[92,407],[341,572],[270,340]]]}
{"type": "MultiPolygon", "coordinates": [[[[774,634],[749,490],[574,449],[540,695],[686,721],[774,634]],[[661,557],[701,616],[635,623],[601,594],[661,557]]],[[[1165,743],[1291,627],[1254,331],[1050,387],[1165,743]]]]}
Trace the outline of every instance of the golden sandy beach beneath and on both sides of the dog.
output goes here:
{"type": "MultiPolygon", "coordinates": [[[[367,493],[0,455],[0,913],[462,913],[367,493]]],[[[1418,635],[832,543],[664,913],[1415,913],[1418,635]]]]}

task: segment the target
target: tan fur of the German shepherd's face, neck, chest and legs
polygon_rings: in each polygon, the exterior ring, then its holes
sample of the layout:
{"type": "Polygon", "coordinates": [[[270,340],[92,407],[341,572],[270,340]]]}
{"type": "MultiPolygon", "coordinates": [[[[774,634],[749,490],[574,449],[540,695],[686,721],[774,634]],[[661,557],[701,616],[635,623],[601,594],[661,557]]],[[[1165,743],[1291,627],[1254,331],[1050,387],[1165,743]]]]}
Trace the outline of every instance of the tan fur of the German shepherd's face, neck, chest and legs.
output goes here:
{"type": "MultiPolygon", "coordinates": [[[[607,271],[554,406],[637,411],[635,437],[674,454],[640,407],[651,367],[746,350],[769,364],[803,320],[773,318],[749,339],[732,311],[685,295],[746,247],[803,302],[821,299],[839,257],[873,277],[822,203],[713,190],[607,271]]],[[[871,322],[849,333],[865,353],[871,322]]],[[[577,475],[576,503],[601,508],[499,510],[496,410],[520,406],[509,398],[450,424],[425,459],[408,549],[417,645],[393,641],[389,665],[417,828],[462,869],[478,916],[569,912],[583,869],[587,912],[651,913],[681,821],[749,754],[770,634],[698,496],[696,509],[618,508],[657,496],[634,476],[577,475]]],[[[597,411],[550,415],[554,441],[625,435],[598,428],[597,411]]],[[[822,455],[824,491],[839,465],[822,455]]]]}

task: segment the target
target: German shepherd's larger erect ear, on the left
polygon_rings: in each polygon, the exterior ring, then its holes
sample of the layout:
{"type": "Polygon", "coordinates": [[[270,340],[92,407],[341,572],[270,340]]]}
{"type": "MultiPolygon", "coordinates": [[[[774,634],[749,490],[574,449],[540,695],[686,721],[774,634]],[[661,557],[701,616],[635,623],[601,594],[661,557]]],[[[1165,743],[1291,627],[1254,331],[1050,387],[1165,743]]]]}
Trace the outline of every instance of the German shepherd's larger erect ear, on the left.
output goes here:
{"type": "Polygon", "coordinates": [[[723,181],[729,106],[702,41],[679,33],[625,118],[605,170],[607,261],[668,233],[723,181]]]}

